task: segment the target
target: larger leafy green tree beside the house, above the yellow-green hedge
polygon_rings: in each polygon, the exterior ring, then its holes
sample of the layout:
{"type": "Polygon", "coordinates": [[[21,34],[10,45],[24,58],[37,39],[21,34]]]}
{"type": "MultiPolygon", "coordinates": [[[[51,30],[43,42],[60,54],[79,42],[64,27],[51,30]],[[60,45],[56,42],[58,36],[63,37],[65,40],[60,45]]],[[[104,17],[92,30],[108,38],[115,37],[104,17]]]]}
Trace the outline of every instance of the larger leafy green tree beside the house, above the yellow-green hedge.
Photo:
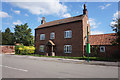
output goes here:
{"type": "Polygon", "coordinates": [[[28,29],[27,23],[24,25],[15,25],[15,41],[16,43],[22,43],[25,46],[34,45],[33,36],[31,33],[31,29],[28,29]]]}

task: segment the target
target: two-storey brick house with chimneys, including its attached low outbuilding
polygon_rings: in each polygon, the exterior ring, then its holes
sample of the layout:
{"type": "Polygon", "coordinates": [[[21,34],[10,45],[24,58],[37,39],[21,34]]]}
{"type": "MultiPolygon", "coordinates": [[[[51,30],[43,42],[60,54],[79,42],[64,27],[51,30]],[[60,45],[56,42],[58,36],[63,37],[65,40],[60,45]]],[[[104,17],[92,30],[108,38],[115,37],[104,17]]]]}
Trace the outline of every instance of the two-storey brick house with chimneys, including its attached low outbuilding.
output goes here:
{"type": "MultiPolygon", "coordinates": [[[[37,54],[73,57],[86,55],[87,25],[90,34],[90,25],[87,24],[87,20],[88,15],[85,4],[82,15],[51,22],[46,22],[45,17],[43,17],[41,25],[35,29],[35,47],[37,54]]],[[[101,56],[106,56],[104,53],[106,53],[106,51],[109,52],[109,48],[112,49],[114,47],[111,45],[110,41],[113,37],[110,35],[111,34],[89,36],[91,47],[99,45],[98,52],[101,56]]],[[[116,47],[114,47],[114,49],[115,48],[116,47]]],[[[110,54],[112,54],[112,52],[110,54]]],[[[94,56],[92,53],[93,50],[91,50],[90,56],[94,56]]]]}

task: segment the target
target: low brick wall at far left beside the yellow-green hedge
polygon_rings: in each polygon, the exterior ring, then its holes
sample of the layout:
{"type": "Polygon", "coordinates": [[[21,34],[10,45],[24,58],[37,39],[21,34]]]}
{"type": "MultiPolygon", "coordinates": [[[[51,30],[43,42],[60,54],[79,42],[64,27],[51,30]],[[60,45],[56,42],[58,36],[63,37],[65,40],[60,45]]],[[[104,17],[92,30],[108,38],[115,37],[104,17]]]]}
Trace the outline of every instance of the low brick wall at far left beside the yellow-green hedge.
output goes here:
{"type": "Polygon", "coordinates": [[[15,46],[1,45],[0,49],[3,54],[14,54],[15,53],[15,46]]]}

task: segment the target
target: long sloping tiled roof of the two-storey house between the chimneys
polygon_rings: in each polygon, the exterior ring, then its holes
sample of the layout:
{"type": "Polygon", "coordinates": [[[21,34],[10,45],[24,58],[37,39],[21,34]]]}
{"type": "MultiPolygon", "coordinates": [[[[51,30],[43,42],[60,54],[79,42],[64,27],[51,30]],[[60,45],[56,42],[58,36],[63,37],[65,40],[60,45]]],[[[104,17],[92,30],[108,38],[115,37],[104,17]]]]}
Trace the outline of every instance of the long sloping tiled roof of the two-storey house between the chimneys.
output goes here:
{"type": "Polygon", "coordinates": [[[41,24],[36,29],[43,28],[43,27],[48,27],[48,26],[53,26],[53,25],[58,25],[58,24],[64,24],[64,23],[78,21],[78,20],[82,20],[83,17],[84,17],[84,15],[79,15],[79,16],[75,16],[75,17],[70,17],[70,18],[65,18],[65,19],[60,19],[60,20],[47,22],[47,23],[41,24]]]}

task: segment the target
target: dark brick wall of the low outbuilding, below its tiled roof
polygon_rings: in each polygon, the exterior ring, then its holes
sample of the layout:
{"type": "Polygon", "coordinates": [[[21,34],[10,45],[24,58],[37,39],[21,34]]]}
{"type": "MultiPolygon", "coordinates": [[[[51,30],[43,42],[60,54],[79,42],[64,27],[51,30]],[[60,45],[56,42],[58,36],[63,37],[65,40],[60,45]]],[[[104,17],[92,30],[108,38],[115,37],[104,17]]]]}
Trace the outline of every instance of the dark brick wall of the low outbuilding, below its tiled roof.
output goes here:
{"type": "MultiPolygon", "coordinates": [[[[91,53],[90,56],[91,57],[113,57],[114,54],[116,54],[116,52],[120,52],[120,46],[112,46],[112,45],[104,45],[105,46],[105,52],[100,52],[100,46],[98,46],[98,50],[97,50],[97,56],[93,53],[93,48],[91,46],[91,53]]],[[[95,45],[93,47],[96,47],[95,45]]],[[[85,56],[87,56],[86,54],[86,46],[85,46],[85,56]]]]}

